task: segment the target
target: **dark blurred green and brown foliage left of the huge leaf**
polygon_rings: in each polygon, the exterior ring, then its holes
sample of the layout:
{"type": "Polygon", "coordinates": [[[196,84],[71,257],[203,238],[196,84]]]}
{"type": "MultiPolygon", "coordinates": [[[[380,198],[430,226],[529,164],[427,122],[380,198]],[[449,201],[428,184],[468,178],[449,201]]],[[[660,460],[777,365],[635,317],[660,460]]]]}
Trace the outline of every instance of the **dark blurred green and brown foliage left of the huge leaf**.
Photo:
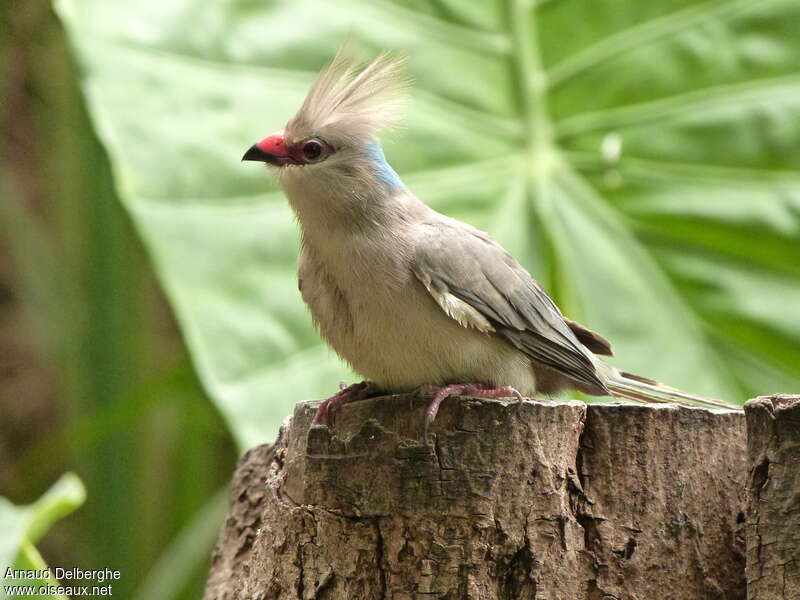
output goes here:
{"type": "Polygon", "coordinates": [[[42,2],[0,18],[0,495],[25,504],[75,471],[86,504],[37,545],[47,564],[119,569],[131,598],[191,539],[146,592],[197,598],[235,447],[117,199],[60,22],[42,2]]]}

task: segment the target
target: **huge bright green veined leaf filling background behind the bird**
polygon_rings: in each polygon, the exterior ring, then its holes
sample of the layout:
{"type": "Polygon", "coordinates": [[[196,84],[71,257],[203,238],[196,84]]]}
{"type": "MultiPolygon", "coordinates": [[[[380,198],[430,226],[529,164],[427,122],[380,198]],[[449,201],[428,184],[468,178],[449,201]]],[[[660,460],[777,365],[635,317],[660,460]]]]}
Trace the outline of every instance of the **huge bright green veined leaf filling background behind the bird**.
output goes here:
{"type": "Polygon", "coordinates": [[[407,127],[386,142],[409,187],[490,231],[617,364],[735,401],[800,381],[796,0],[58,8],[120,194],[243,445],[346,377],[295,289],[292,215],[239,157],[348,37],[365,58],[409,55],[407,127]]]}

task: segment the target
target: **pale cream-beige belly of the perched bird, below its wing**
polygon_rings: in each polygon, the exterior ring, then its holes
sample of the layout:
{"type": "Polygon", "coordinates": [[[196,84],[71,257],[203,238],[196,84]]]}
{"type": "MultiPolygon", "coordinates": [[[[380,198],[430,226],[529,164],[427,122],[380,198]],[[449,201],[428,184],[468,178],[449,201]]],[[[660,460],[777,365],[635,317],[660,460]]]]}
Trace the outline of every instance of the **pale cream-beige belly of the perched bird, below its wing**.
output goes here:
{"type": "Polygon", "coordinates": [[[492,334],[459,325],[410,269],[404,272],[405,278],[388,287],[368,274],[337,278],[321,264],[301,259],[303,299],[320,333],[356,372],[388,391],[481,382],[534,393],[525,355],[492,334]]]}

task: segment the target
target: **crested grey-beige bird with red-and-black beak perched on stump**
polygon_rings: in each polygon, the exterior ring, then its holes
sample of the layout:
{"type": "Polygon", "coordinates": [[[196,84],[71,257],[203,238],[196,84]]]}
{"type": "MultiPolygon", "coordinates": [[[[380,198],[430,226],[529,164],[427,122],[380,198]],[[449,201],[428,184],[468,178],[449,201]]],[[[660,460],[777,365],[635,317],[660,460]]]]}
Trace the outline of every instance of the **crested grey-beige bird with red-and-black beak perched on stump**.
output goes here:
{"type": "Polygon", "coordinates": [[[340,50],[286,126],[242,157],[266,163],[283,189],[301,231],[303,301],[365,378],[322,401],[313,423],[376,393],[431,397],[426,439],[450,396],[521,402],[577,390],[734,408],[602,360],[610,342],[562,315],[500,244],[405,186],[378,138],[400,121],[405,62],[383,53],[360,67],[340,50]]]}

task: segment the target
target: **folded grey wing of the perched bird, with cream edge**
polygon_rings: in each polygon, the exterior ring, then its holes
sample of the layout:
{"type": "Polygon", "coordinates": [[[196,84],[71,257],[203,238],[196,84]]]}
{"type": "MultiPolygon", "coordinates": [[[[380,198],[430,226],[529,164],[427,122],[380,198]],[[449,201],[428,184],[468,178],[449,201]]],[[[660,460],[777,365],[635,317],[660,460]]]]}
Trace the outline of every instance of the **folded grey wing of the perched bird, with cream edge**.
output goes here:
{"type": "Polygon", "coordinates": [[[413,269],[462,326],[500,335],[531,359],[608,393],[591,354],[553,301],[485,233],[451,219],[418,224],[413,269]]]}

